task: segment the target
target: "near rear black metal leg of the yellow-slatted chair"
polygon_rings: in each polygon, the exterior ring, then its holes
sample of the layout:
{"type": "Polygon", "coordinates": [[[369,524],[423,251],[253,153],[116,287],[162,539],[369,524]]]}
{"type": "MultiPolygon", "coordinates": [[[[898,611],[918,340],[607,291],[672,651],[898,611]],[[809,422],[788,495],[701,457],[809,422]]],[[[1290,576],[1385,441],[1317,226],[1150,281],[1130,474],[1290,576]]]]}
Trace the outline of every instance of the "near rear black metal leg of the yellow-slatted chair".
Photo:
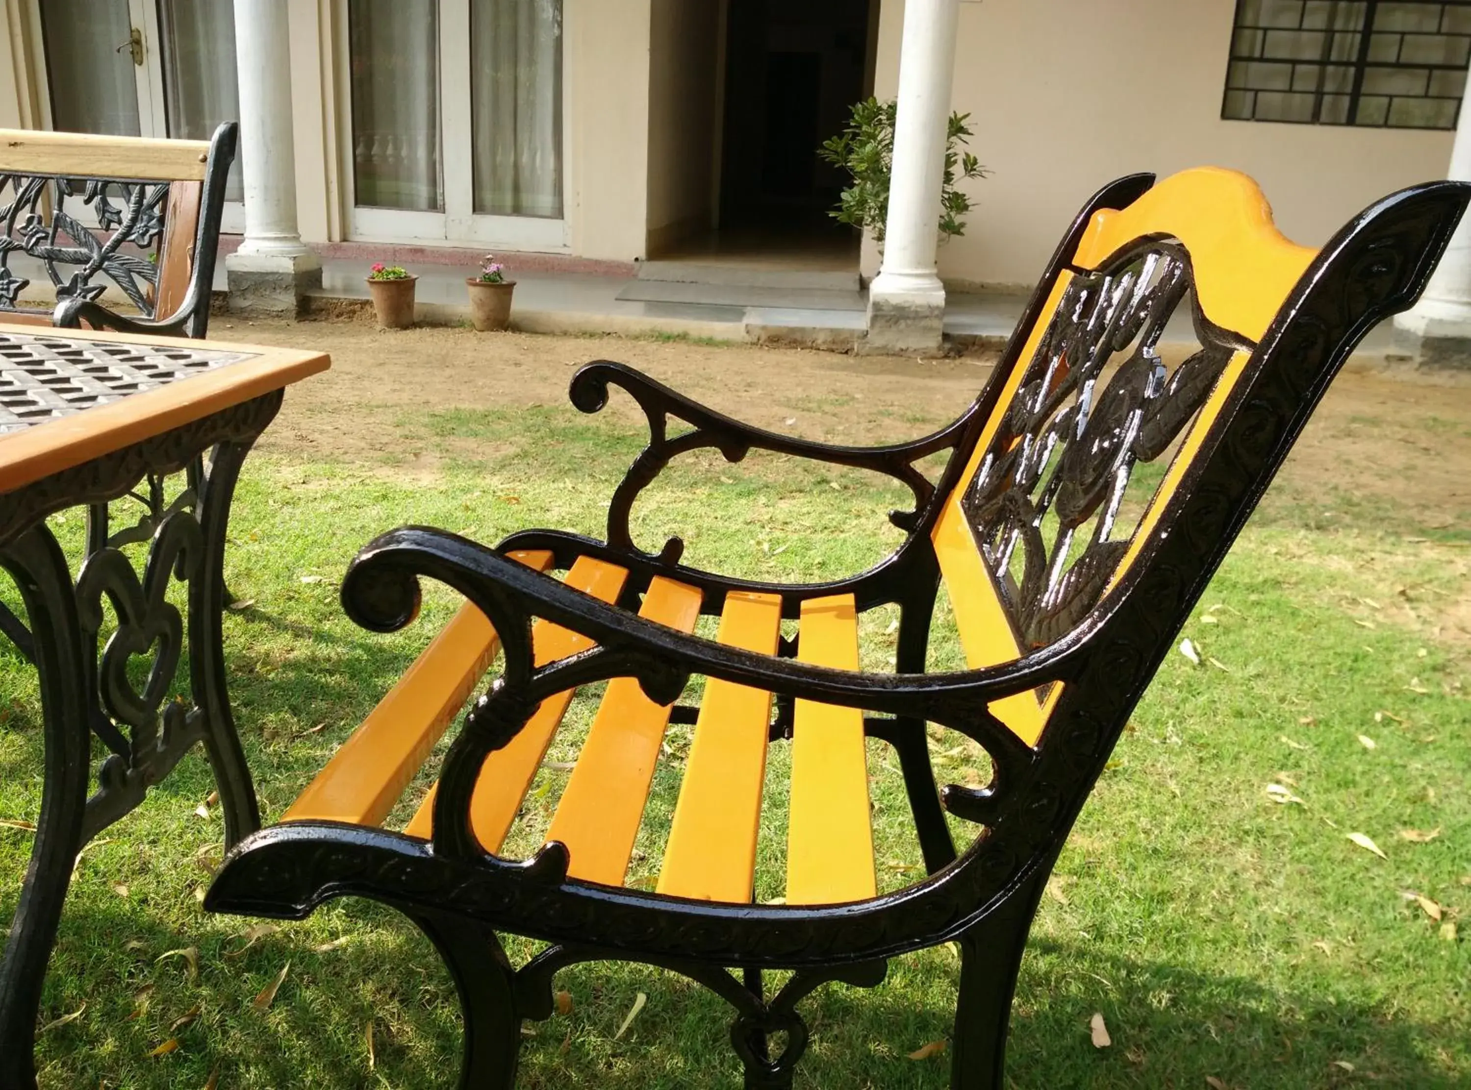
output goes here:
{"type": "Polygon", "coordinates": [[[1050,866],[997,912],[961,936],[961,996],[955,1006],[950,1090],[1000,1090],[1006,1069],[1016,974],[1050,866]]]}

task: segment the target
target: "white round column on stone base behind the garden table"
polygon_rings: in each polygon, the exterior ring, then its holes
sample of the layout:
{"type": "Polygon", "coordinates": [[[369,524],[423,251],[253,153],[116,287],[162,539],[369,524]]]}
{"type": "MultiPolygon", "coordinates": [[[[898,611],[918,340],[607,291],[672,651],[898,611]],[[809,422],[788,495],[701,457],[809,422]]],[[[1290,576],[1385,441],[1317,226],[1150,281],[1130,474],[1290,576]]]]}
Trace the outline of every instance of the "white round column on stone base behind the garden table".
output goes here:
{"type": "Polygon", "coordinates": [[[246,237],[225,259],[229,307],[294,313],[321,263],[296,225],[288,0],[235,0],[246,237]]]}

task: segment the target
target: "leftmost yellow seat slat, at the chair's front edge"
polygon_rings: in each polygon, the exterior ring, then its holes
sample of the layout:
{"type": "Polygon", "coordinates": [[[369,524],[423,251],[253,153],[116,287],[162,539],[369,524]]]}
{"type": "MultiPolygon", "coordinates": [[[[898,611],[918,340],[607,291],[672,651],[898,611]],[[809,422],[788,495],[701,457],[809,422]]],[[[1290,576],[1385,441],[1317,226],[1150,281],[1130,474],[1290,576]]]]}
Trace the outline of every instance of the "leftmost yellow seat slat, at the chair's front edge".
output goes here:
{"type": "MultiPolygon", "coordinates": [[[[552,566],[544,550],[510,556],[537,571],[552,566]]],[[[381,825],[499,647],[485,615],[462,605],[281,819],[381,825]]]]}

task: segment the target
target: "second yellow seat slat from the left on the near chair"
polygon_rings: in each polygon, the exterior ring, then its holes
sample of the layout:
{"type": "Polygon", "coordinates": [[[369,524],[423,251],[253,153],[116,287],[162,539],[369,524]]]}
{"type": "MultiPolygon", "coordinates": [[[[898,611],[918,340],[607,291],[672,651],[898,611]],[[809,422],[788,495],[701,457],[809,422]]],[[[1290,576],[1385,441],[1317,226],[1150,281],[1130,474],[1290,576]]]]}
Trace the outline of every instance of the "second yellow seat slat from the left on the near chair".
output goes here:
{"type": "MultiPolygon", "coordinates": [[[[624,588],[628,572],[612,563],[596,560],[590,556],[580,556],[566,574],[566,585],[591,594],[603,602],[612,602],[624,588]]],[[[535,663],[544,666],[549,662],[565,659],[593,646],[585,635],[550,624],[537,621],[531,627],[533,653],[535,663]]],[[[566,706],[572,703],[572,690],[558,693],[541,702],[531,719],[521,733],[502,750],[496,750],[485,759],[475,783],[475,794],[471,796],[469,813],[471,827],[481,847],[487,852],[497,852],[510,822],[516,819],[521,809],[521,799],[546,756],[547,746],[558,724],[566,713],[566,706]]],[[[424,797],[413,819],[405,828],[412,837],[425,840],[434,831],[434,788],[424,797]]]]}

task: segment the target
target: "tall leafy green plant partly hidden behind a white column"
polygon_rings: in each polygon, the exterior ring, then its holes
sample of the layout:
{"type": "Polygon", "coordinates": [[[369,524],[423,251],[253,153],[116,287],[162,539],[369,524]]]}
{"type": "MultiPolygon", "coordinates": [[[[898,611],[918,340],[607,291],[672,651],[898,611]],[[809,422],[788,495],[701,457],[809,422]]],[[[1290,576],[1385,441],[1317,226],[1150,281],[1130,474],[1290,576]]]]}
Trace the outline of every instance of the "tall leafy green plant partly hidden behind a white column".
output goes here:
{"type": "MultiPolygon", "coordinates": [[[[894,165],[894,101],[865,99],[853,104],[847,128],[827,140],[818,154],[849,172],[853,184],[843,190],[840,203],[828,215],[840,224],[869,231],[880,243],[888,224],[888,184],[894,165]]],[[[940,238],[965,234],[965,213],[971,199],[956,182],[986,178],[990,171],[964,147],[974,135],[969,113],[952,113],[944,141],[944,179],[940,185],[940,238]]]]}

